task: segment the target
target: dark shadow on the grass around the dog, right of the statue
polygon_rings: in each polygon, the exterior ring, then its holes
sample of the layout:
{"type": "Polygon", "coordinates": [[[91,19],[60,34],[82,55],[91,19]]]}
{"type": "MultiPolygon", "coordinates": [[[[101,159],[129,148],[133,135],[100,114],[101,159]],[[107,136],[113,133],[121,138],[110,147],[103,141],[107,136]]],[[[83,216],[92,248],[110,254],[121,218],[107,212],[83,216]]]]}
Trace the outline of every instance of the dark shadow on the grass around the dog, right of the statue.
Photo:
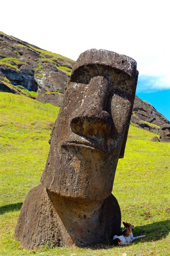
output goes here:
{"type": "MultiPolygon", "coordinates": [[[[170,220],[158,221],[147,225],[142,226],[134,226],[133,236],[137,237],[138,235],[146,235],[144,238],[136,239],[133,243],[145,243],[158,241],[162,238],[165,238],[170,232],[170,220]]],[[[116,245],[113,243],[112,239],[108,240],[106,243],[96,244],[95,246],[89,246],[88,248],[92,250],[96,249],[109,249],[115,247],[116,245]]],[[[126,245],[126,246],[131,246],[126,245]]]]}

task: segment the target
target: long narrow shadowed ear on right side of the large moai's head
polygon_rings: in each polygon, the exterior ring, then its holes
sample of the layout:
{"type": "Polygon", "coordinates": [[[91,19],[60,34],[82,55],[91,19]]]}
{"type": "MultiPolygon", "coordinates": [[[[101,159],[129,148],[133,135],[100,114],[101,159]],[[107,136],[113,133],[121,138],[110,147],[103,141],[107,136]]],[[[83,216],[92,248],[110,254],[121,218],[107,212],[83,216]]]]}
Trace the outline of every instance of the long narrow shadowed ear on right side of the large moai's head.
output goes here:
{"type": "MultiPolygon", "coordinates": [[[[139,74],[139,72],[136,71],[136,86],[137,86],[138,74],[139,74]]],[[[136,92],[136,88],[135,88],[134,94],[132,95],[131,114],[132,114],[132,109],[133,109],[133,104],[134,104],[135,92],[136,92]]],[[[127,135],[128,135],[129,125],[130,125],[130,121],[131,121],[131,114],[129,114],[129,117],[128,117],[128,122],[127,122],[126,130],[125,130],[125,133],[124,133],[124,138],[123,138],[122,148],[121,148],[121,152],[120,152],[119,158],[123,158],[124,157],[124,151],[125,151],[125,147],[126,147],[127,135]]]]}

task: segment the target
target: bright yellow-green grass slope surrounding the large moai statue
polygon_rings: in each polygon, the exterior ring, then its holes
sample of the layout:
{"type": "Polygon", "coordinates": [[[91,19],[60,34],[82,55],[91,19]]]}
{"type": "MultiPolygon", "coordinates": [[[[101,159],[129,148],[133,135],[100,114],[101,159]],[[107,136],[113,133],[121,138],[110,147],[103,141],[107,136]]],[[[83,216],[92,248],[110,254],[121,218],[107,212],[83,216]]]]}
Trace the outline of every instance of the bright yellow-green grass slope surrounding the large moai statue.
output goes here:
{"type": "Polygon", "coordinates": [[[39,184],[58,108],[23,95],[0,93],[0,255],[170,255],[168,252],[170,143],[151,142],[154,134],[130,126],[119,160],[113,194],[122,221],[145,234],[131,246],[63,247],[23,251],[13,239],[20,207],[39,184]]]}

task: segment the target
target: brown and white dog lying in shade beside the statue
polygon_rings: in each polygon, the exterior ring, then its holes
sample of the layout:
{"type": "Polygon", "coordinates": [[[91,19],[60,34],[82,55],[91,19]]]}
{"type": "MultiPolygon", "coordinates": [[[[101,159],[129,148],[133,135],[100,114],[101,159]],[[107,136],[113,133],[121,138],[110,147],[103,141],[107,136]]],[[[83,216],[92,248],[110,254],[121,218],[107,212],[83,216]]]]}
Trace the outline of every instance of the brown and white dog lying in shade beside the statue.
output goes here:
{"type": "Polygon", "coordinates": [[[133,225],[130,223],[123,222],[124,230],[122,231],[121,235],[114,235],[113,242],[117,245],[124,245],[124,244],[130,244],[137,238],[146,237],[146,235],[139,235],[138,237],[133,237],[132,230],[133,225]]]}

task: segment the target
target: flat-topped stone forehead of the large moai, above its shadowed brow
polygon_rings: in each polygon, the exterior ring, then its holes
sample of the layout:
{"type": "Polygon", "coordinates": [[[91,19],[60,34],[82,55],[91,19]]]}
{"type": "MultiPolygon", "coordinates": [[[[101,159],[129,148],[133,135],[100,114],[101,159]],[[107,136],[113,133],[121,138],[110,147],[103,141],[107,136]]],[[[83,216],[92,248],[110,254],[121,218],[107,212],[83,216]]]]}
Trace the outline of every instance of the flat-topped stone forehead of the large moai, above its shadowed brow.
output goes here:
{"type": "Polygon", "coordinates": [[[126,55],[115,53],[114,51],[103,49],[90,49],[81,53],[72,69],[72,74],[80,66],[89,64],[110,66],[127,73],[132,78],[136,77],[137,63],[134,59],[126,55]]]}

